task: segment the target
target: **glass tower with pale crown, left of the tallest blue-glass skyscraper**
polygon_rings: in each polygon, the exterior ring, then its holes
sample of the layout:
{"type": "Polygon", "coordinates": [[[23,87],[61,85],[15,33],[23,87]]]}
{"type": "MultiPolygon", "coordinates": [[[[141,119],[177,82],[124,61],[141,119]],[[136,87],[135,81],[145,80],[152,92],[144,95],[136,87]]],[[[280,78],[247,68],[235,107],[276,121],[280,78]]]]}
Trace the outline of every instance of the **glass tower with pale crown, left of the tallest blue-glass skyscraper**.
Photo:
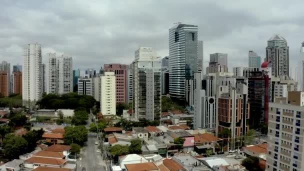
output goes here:
{"type": "Polygon", "coordinates": [[[133,69],[133,116],[136,120],[160,119],[160,68],[161,58],[151,47],[135,51],[133,69]]]}

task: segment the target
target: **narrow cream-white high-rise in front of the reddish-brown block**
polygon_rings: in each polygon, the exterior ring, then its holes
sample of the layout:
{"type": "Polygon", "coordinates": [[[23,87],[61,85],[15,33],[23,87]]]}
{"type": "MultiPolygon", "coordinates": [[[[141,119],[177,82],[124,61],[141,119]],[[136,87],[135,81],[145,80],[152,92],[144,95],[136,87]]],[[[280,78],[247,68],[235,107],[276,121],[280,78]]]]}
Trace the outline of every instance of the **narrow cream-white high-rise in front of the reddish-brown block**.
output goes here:
{"type": "Polygon", "coordinates": [[[100,112],[105,116],[116,115],[115,84],[117,79],[115,77],[115,72],[107,71],[105,71],[104,75],[101,76],[100,112]]]}

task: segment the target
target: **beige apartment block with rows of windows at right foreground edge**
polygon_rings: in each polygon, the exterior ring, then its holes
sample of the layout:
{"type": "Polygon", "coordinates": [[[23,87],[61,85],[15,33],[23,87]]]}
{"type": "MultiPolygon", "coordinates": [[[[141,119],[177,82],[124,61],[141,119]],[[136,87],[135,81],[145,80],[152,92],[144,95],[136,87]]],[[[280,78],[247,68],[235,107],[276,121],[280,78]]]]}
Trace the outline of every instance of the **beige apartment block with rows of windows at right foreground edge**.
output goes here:
{"type": "Polygon", "coordinates": [[[304,169],[304,92],[269,103],[266,170],[304,169]]]}

